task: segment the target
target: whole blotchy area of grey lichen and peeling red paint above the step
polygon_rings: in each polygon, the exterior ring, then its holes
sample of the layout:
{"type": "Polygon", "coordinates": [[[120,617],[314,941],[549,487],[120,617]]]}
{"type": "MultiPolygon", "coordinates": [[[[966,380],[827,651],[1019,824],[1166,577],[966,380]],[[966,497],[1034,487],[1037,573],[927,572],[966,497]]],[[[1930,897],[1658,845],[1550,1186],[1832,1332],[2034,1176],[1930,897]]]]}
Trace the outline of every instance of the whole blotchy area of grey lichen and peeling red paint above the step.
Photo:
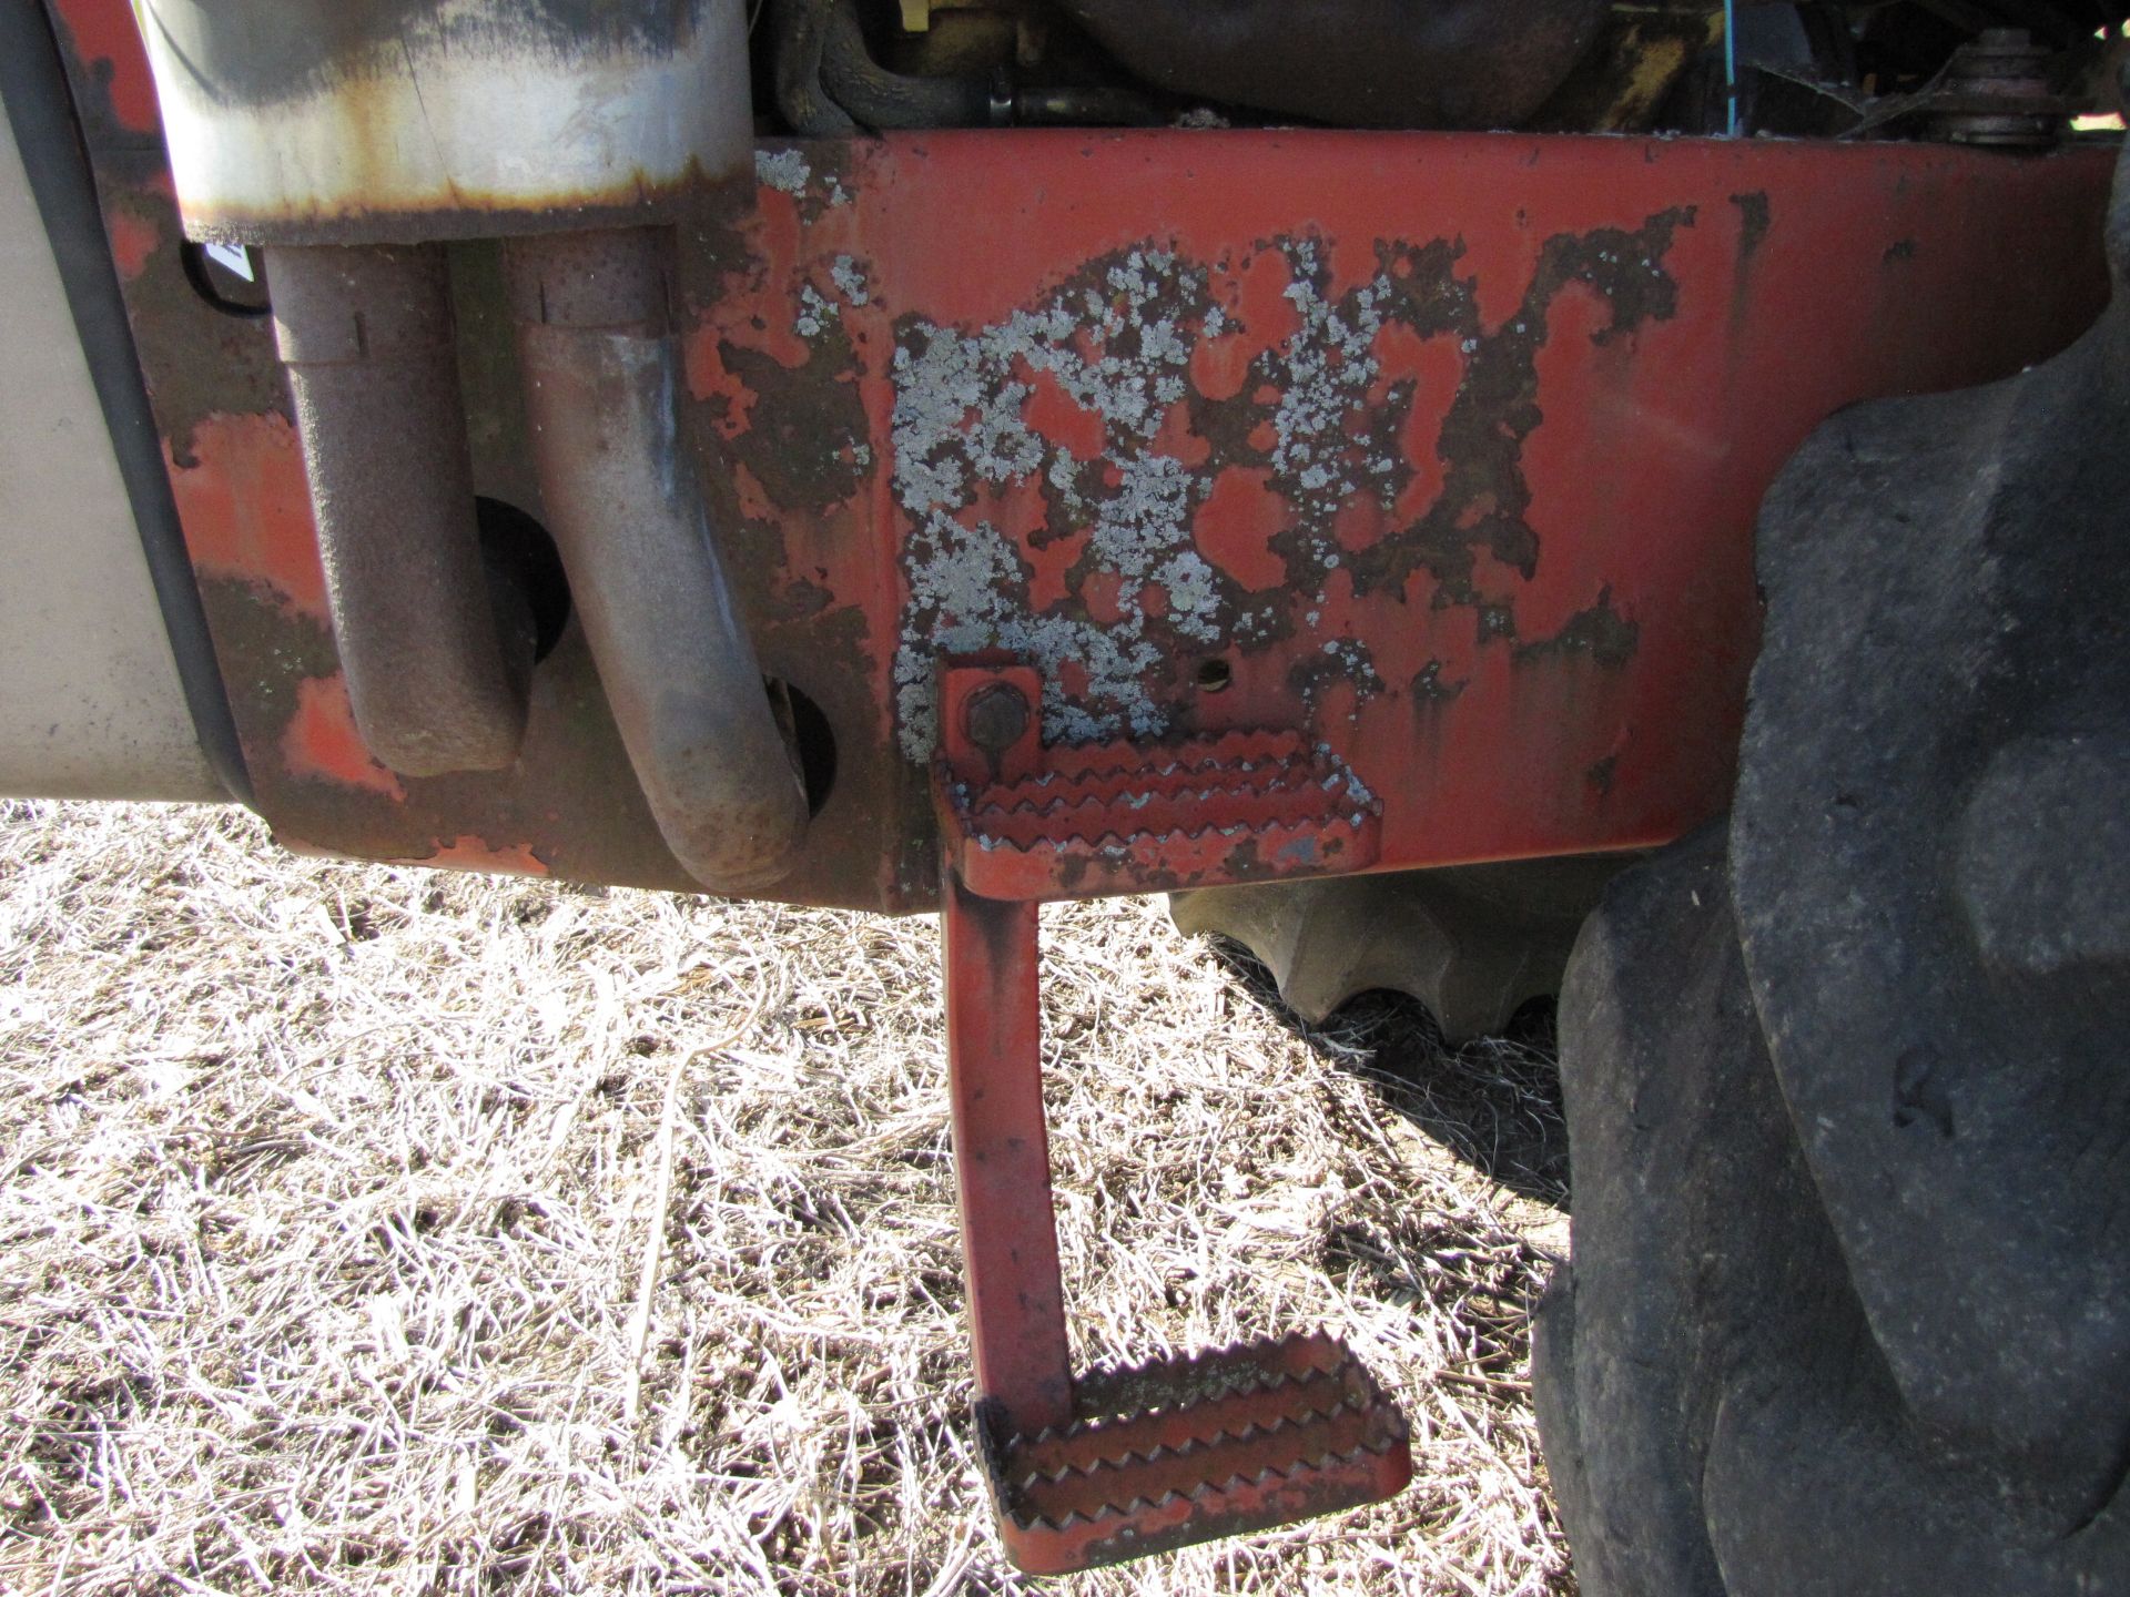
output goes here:
{"type": "MultiPolygon", "coordinates": [[[[1208,652],[1318,630],[1287,690],[1318,715],[1344,684],[1353,720],[1404,692],[1329,620],[1357,603],[1468,609],[1474,643],[1514,641],[1514,583],[1538,569],[1523,445],[1544,419],[1553,307],[1595,292],[1598,345],[1668,317],[1664,256],[1691,221],[1549,238],[1497,326],[1457,241],[1378,243],[1374,270],[1340,287],[1331,245],[1308,234],[1212,264],[1116,251],[988,326],[903,317],[903,754],[931,758],[941,654],[1022,656],[1044,673],[1044,735],[1084,741],[1172,730],[1208,652]],[[1416,415],[1440,417],[1429,441],[1416,415]]],[[[807,290],[801,334],[818,300],[807,290]]]]}

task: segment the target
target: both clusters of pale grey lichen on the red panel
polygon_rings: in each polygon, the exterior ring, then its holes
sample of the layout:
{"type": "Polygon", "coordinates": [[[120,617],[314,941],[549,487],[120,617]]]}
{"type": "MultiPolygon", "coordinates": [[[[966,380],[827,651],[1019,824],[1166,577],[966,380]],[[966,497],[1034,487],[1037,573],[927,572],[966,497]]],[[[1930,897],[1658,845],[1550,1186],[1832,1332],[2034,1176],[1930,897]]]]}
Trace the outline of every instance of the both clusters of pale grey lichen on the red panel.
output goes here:
{"type": "MultiPolygon", "coordinates": [[[[1252,600],[1195,545],[1193,520],[1212,471],[1157,447],[1163,424],[1191,394],[1199,341],[1235,328],[1214,304],[1201,266],[1165,249],[1131,249],[1095,262],[1048,302],[965,332],[929,322],[901,328],[895,351],[895,494],[916,532],[905,547],[910,603],[897,641],[895,684],[901,745],[924,760],[937,737],[933,662],[961,649],[1014,649],[1044,673],[1044,735],[1059,739],[1150,737],[1167,730],[1154,696],[1178,649],[1206,643],[1265,647],[1280,605],[1325,600],[1342,562],[1333,517],[1357,496],[1387,509],[1397,492],[1395,441],[1357,432],[1382,375],[1376,341],[1395,307],[1384,273],[1333,296],[1327,251],[1314,238],[1265,245],[1284,256],[1293,336],[1257,356],[1248,392],[1263,407],[1269,443],[1250,456],[1293,507],[1276,543],[1291,588],[1252,600]],[[1101,422],[1095,458],[1029,426],[1037,388],[1052,381],[1101,422]],[[965,524],[978,496],[1033,490],[1046,505],[1046,539],[1082,539],[1067,598],[1031,613],[1033,571],[988,522],[965,524]],[[1088,615],[1088,579],[1114,579],[1116,620],[1088,615]],[[1067,696],[1061,666],[1084,673],[1067,696]]],[[[1235,437],[1233,432],[1229,437],[1235,437]]],[[[1037,545],[1042,547],[1042,545],[1037,545]]],[[[1363,694],[1384,690],[1365,652],[1331,649],[1312,662],[1306,698],[1323,675],[1344,675],[1363,694]]]]}

